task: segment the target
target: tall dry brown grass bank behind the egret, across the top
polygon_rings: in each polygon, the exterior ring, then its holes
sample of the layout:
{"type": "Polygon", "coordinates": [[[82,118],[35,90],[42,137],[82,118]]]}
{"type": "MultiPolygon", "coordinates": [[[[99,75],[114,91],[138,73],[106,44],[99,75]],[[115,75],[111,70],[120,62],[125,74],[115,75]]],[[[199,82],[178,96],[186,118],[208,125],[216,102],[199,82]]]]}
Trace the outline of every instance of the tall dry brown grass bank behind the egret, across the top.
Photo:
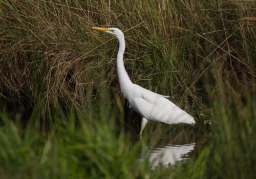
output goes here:
{"type": "Polygon", "coordinates": [[[113,26],[126,36],[132,80],[198,115],[212,73],[255,92],[255,10],[253,1],[1,1],[1,98],[46,111],[82,107],[101,84],[120,95],[117,41],[90,30],[113,26]]]}

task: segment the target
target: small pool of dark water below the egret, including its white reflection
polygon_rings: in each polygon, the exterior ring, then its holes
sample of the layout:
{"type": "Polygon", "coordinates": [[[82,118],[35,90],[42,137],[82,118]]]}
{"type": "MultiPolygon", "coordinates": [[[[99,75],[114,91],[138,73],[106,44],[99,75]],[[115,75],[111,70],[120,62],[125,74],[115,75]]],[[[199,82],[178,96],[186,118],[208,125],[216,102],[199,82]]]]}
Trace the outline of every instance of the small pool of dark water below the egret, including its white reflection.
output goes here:
{"type": "MultiPolygon", "coordinates": [[[[151,127],[152,128],[152,127],[151,127]]],[[[142,138],[132,138],[133,143],[141,143],[138,154],[139,162],[149,160],[152,169],[172,167],[177,162],[194,161],[198,153],[207,145],[205,129],[191,126],[174,126],[169,128],[164,124],[153,127],[142,138]]]]}

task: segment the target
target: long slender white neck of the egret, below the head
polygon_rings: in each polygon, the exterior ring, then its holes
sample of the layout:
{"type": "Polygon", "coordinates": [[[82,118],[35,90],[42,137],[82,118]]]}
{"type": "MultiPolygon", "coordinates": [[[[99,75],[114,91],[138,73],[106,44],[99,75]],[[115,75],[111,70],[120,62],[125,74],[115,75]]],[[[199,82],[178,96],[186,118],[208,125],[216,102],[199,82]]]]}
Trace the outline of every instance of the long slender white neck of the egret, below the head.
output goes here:
{"type": "Polygon", "coordinates": [[[129,92],[132,81],[130,80],[127,72],[125,71],[124,65],[123,65],[123,54],[125,50],[125,41],[124,36],[117,37],[119,41],[119,50],[117,54],[117,75],[119,84],[121,87],[121,91],[123,95],[126,97],[127,92],[129,92]]]}

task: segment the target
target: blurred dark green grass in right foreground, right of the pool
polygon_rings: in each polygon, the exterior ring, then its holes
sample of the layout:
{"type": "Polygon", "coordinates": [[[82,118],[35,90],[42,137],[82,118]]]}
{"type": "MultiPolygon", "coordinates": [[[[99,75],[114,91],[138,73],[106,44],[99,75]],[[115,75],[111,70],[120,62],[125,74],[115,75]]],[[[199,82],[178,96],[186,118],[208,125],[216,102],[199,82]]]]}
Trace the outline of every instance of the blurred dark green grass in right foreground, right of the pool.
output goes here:
{"type": "Polygon", "coordinates": [[[256,145],[253,128],[256,127],[256,96],[250,94],[247,87],[242,94],[233,93],[226,89],[225,92],[219,90],[218,95],[222,97],[214,101],[215,123],[212,125],[214,135],[210,152],[210,160],[214,162],[210,162],[211,166],[207,169],[214,178],[254,176],[256,157],[253,153],[256,145]]]}

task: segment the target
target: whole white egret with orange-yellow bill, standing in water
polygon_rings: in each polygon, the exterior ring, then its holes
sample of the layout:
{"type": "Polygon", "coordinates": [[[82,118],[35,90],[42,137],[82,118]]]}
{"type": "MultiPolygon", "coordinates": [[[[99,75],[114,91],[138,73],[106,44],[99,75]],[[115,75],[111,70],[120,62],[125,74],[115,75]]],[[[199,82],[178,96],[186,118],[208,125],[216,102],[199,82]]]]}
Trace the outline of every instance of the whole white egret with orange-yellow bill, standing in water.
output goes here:
{"type": "Polygon", "coordinates": [[[121,92],[129,101],[129,107],[133,108],[142,116],[140,136],[142,135],[142,131],[148,120],[164,122],[167,124],[196,123],[193,117],[180,109],[173,102],[166,99],[169,98],[169,96],[159,95],[132,83],[123,65],[125,41],[124,35],[120,29],[98,27],[92,27],[92,29],[112,34],[116,36],[119,41],[117,75],[121,92]]]}

